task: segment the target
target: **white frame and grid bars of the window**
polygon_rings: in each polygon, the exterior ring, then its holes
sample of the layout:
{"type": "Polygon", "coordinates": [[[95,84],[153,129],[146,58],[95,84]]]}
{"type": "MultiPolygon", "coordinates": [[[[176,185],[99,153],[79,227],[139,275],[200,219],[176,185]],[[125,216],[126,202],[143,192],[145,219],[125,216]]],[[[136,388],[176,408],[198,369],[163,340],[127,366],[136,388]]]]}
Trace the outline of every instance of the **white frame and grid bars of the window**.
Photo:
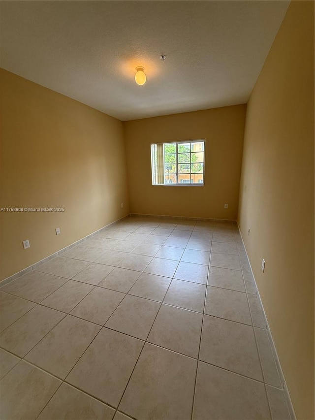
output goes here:
{"type": "MultiPolygon", "coordinates": [[[[204,182],[205,182],[205,153],[206,153],[206,139],[205,138],[194,139],[194,140],[183,140],[183,141],[167,141],[165,143],[152,143],[150,147],[151,147],[152,185],[154,187],[161,187],[161,186],[203,187],[204,186],[204,182]],[[178,155],[179,155],[178,145],[179,144],[185,144],[185,143],[200,143],[200,142],[203,142],[203,145],[204,145],[203,146],[203,162],[202,162],[203,163],[203,172],[200,172],[200,173],[202,173],[202,181],[203,182],[201,183],[200,180],[198,180],[198,182],[196,182],[196,183],[191,183],[191,175],[194,175],[191,172],[187,173],[187,175],[189,175],[189,183],[179,182],[179,179],[178,179],[179,175],[184,175],[184,174],[179,174],[179,165],[181,163],[178,162],[178,155]],[[154,147],[154,146],[156,146],[157,144],[161,144],[162,147],[163,147],[163,179],[164,179],[164,184],[155,184],[154,183],[155,179],[156,179],[156,173],[155,173],[156,168],[155,168],[155,164],[154,164],[155,161],[154,161],[153,149],[155,148],[155,150],[156,150],[156,147],[154,147]],[[164,145],[165,144],[176,144],[176,152],[175,152],[175,154],[176,154],[176,173],[175,173],[175,175],[176,175],[176,180],[177,180],[176,183],[165,183],[165,154],[164,154],[164,145]]],[[[191,152],[191,150],[190,150],[190,154],[191,153],[197,153],[197,152],[191,152]]],[[[185,164],[185,163],[183,163],[183,164],[185,164]]],[[[190,158],[190,162],[187,163],[187,164],[189,164],[189,165],[191,164],[191,158],[190,158]]],[[[190,170],[191,170],[191,166],[190,166],[190,170]]]]}

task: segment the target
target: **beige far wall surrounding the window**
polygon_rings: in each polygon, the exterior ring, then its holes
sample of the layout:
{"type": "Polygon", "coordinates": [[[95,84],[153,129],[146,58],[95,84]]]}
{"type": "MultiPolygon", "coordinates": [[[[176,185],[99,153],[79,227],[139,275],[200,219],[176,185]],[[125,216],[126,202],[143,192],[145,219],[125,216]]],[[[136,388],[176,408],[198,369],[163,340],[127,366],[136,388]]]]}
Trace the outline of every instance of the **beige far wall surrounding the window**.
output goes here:
{"type": "Polygon", "coordinates": [[[245,113],[235,105],[125,122],[130,211],[236,220],[245,113]],[[202,138],[204,186],[152,185],[151,143],[202,138]]]}

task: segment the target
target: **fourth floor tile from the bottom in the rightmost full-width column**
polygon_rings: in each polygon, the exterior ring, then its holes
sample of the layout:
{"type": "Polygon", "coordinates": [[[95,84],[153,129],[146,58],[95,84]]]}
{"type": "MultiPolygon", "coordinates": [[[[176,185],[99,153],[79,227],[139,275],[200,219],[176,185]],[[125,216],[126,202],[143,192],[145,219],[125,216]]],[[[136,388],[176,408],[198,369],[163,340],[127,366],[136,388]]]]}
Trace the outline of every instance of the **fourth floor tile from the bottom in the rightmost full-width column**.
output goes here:
{"type": "Polygon", "coordinates": [[[236,291],[245,291],[242,273],[227,268],[209,267],[208,285],[236,291]]]}

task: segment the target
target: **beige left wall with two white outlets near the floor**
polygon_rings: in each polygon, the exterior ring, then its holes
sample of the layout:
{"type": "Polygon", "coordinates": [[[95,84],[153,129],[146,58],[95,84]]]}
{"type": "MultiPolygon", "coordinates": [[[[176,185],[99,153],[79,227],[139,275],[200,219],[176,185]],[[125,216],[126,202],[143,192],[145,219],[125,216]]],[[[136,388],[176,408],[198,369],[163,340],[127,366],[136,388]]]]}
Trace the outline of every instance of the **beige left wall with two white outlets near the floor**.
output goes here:
{"type": "Polygon", "coordinates": [[[5,70],[0,82],[0,206],[65,209],[0,213],[3,279],[129,208],[122,122],[5,70]]]}

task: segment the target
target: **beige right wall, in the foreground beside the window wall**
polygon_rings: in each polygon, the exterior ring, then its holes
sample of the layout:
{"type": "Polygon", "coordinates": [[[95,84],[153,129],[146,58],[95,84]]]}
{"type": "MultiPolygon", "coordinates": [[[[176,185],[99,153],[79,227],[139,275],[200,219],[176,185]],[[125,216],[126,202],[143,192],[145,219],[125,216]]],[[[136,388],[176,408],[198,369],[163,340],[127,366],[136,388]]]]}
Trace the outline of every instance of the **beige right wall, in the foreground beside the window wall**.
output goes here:
{"type": "Polygon", "coordinates": [[[314,419],[312,1],[291,2],[248,103],[238,220],[297,417],[314,419]]]}

